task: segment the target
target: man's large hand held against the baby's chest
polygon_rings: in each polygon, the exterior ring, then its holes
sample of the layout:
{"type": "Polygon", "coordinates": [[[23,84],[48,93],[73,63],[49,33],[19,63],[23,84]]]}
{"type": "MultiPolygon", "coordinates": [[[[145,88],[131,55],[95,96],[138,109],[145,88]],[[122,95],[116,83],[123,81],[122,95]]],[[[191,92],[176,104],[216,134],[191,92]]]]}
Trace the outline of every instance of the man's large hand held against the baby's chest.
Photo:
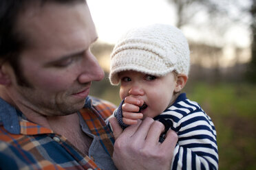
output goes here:
{"type": "Polygon", "coordinates": [[[163,143],[159,143],[164,125],[146,118],[124,131],[116,118],[109,119],[116,138],[113,160],[118,169],[171,169],[177,134],[169,130],[163,143]]]}

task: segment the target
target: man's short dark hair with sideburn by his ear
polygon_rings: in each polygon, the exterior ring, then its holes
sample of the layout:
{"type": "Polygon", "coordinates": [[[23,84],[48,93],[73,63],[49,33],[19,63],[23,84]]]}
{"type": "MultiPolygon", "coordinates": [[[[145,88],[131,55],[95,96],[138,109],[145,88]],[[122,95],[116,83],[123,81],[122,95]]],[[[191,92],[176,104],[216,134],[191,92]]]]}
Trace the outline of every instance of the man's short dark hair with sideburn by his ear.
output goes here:
{"type": "Polygon", "coordinates": [[[47,2],[76,3],[85,0],[0,0],[0,62],[9,62],[17,76],[20,86],[30,86],[23,77],[19,64],[19,55],[27,45],[22,32],[17,30],[17,20],[20,12],[34,3],[41,5],[47,2]]]}

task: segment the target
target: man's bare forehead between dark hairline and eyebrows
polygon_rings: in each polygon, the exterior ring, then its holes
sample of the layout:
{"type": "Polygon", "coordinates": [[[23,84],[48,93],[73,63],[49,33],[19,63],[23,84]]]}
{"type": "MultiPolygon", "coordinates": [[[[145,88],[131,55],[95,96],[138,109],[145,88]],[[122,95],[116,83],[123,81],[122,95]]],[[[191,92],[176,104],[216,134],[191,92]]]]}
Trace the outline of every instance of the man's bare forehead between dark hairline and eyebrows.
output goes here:
{"type": "MultiPolygon", "coordinates": [[[[89,9],[85,3],[67,5],[45,4],[39,11],[27,13],[19,26],[25,41],[26,54],[56,60],[85,51],[97,38],[89,9]],[[38,54],[38,55],[37,55],[38,54]]],[[[34,9],[32,9],[34,10],[34,9]]]]}

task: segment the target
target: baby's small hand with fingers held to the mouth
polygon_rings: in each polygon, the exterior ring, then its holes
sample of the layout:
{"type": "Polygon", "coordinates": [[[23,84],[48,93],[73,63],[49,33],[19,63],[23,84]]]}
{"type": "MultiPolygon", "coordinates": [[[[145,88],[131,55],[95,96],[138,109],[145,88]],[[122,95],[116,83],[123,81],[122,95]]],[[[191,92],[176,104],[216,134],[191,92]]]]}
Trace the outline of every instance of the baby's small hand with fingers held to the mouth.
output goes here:
{"type": "Polygon", "coordinates": [[[135,97],[125,97],[125,102],[122,104],[122,121],[127,125],[134,125],[138,119],[143,118],[142,113],[138,113],[139,106],[142,106],[144,101],[135,97]]]}

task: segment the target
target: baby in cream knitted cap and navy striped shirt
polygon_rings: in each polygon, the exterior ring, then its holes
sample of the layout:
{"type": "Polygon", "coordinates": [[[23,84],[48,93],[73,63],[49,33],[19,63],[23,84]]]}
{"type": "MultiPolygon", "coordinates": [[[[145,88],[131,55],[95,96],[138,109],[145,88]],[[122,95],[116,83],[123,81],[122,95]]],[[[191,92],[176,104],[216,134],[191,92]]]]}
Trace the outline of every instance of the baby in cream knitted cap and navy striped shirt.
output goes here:
{"type": "Polygon", "coordinates": [[[189,45],[171,25],[131,29],[111,53],[109,80],[120,82],[122,102],[114,117],[122,128],[151,117],[178,134],[171,169],[218,169],[216,132],[211,118],[180,93],[188,80],[189,45]]]}

